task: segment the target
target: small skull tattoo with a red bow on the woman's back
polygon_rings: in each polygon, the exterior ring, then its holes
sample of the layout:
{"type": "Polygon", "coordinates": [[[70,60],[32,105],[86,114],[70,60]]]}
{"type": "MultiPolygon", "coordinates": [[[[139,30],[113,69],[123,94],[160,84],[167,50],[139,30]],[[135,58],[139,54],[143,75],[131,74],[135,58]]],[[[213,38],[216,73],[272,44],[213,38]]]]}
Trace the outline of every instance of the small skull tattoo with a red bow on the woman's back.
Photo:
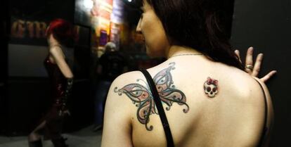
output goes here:
{"type": "Polygon", "coordinates": [[[218,80],[212,79],[211,77],[207,77],[207,81],[204,83],[204,91],[205,94],[209,98],[214,98],[214,96],[218,93],[218,80]]]}

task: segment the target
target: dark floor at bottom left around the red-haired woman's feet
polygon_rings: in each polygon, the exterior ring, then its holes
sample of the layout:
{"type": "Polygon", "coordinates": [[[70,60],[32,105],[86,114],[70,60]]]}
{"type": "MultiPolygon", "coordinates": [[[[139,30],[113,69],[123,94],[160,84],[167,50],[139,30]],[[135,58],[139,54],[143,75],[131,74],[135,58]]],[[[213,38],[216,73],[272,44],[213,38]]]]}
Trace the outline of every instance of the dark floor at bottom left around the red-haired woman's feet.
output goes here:
{"type": "MultiPolygon", "coordinates": [[[[101,131],[93,132],[93,126],[80,129],[77,132],[63,134],[69,147],[99,147],[101,146],[101,131]]],[[[44,147],[53,147],[51,141],[44,141],[44,147]]],[[[0,147],[28,147],[27,136],[0,136],[0,147]]]]}

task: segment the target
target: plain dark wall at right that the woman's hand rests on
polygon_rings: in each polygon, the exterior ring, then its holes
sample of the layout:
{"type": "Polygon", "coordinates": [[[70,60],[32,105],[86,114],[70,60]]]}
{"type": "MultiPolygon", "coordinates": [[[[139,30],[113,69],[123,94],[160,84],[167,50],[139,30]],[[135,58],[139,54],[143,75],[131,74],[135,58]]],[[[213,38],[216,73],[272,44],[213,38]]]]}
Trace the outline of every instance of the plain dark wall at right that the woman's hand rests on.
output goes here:
{"type": "Polygon", "coordinates": [[[236,0],[232,42],[244,53],[249,46],[264,53],[261,75],[278,70],[267,82],[275,110],[271,146],[291,146],[291,1],[236,0]]]}

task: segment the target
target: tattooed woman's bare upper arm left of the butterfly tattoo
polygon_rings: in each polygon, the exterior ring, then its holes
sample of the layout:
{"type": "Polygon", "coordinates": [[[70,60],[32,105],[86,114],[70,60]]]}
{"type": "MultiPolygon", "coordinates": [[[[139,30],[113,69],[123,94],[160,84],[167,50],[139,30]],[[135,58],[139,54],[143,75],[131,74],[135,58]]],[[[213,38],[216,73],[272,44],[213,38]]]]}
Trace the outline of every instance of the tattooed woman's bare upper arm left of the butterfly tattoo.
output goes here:
{"type": "Polygon", "coordinates": [[[119,95],[115,87],[120,87],[127,78],[119,76],[108,91],[105,105],[101,147],[132,147],[131,107],[132,103],[124,94],[119,95]],[[122,83],[123,82],[123,83],[122,83]]]}

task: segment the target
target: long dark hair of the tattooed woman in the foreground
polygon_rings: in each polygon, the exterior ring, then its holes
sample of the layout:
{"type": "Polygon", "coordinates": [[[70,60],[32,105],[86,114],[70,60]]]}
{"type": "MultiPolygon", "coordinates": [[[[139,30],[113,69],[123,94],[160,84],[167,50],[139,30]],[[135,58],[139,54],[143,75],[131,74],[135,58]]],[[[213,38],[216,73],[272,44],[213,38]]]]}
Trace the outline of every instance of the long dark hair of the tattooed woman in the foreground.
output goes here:
{"type": "Polygon", "coordinates": [[[171,44],[197,49],[214,61],[243,70],[221,25],[225,0],[146,1],[160,18],[171,44]]]}

